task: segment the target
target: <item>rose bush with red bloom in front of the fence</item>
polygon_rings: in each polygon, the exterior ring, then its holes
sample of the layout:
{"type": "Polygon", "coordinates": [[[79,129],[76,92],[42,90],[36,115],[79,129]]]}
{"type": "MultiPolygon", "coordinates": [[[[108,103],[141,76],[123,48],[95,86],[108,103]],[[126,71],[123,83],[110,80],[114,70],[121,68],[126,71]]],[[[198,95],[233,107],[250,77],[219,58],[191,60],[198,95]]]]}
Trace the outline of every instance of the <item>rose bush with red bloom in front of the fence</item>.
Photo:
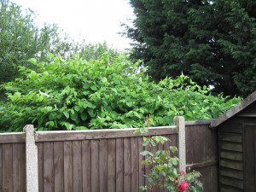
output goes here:
{"type": "MultiPolygon", "coordinates": [[[[153,119],[148,118],[146,125],[152,124],[153,119]]],[[[148,133],[148,128],[139,128],[137,133],[148,133]]],[[[167,191],[179,192],[202,192],[203,185],[199,180],[201,177],[200,172],[188,170],[185,173],[183,170],[178,171],[177,166],[179,159],[177,154],[177,148],[171,146],[168,150],[157,150],[152,153],[153,148],[157,148],[159,144],[164,145],[169,139],[162,136],[143,137],[143,146],[147,150],[142,151],[144,159],[142,164],[146,166],[146,169],[150,171],[145,175],[147,178],[147,185],[140,186],[142,190],[154,190],[154,189],[167,189],[167,191]]]]}

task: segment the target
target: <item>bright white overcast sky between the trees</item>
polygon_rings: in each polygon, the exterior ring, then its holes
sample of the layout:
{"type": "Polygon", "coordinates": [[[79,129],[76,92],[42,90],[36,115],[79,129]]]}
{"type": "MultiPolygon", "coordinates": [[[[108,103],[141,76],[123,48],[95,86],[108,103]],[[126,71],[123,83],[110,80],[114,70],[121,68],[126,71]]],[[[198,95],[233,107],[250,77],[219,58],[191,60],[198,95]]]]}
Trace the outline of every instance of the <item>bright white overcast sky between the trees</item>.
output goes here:
{"type": "Polygon", "coordinates": [[[122,38],[121,22],[134,18],[128,0],[12,0],[22,8],[34,10],[36,22],[57,24],[77,41],[102,43],[117,49],[129,48],[122,38]]]}

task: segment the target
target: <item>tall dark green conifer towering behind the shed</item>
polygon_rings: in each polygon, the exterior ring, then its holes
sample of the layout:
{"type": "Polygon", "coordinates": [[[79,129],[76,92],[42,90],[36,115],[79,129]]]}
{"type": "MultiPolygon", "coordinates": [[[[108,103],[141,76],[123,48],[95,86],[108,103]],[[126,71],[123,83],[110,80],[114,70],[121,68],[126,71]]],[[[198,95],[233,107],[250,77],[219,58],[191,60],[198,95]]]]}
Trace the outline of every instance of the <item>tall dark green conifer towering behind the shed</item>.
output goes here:
{"type": "Polygon", "coordinates": [[[254,0],[130,0],[133,58],[156,80],[180,73],[224,95],[256,90],[254,0]]]}

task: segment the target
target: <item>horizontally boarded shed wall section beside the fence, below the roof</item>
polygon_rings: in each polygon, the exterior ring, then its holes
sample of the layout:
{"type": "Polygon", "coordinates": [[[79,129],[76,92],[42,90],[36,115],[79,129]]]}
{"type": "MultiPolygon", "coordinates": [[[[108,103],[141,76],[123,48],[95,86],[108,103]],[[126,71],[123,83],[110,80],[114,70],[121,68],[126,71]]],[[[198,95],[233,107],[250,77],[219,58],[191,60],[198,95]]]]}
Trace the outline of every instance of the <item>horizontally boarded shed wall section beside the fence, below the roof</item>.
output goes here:
{"type": "Polygon", "coordinates": [[[238,192],[244,189],[243,118],[233,117],[218,128],[219,190],[238,192]]]}

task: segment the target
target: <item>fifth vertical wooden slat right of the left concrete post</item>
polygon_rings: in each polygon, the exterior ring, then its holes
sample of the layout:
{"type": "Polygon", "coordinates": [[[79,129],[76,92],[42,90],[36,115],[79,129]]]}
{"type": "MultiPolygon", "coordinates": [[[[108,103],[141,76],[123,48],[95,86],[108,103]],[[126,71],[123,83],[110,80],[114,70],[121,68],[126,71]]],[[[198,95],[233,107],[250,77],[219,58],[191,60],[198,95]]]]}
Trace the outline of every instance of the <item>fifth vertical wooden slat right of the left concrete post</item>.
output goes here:
{"type": "Polygon", "coordinates": [[[73,142],[73,191],[82,192],[82,143],[73,142]]]}

